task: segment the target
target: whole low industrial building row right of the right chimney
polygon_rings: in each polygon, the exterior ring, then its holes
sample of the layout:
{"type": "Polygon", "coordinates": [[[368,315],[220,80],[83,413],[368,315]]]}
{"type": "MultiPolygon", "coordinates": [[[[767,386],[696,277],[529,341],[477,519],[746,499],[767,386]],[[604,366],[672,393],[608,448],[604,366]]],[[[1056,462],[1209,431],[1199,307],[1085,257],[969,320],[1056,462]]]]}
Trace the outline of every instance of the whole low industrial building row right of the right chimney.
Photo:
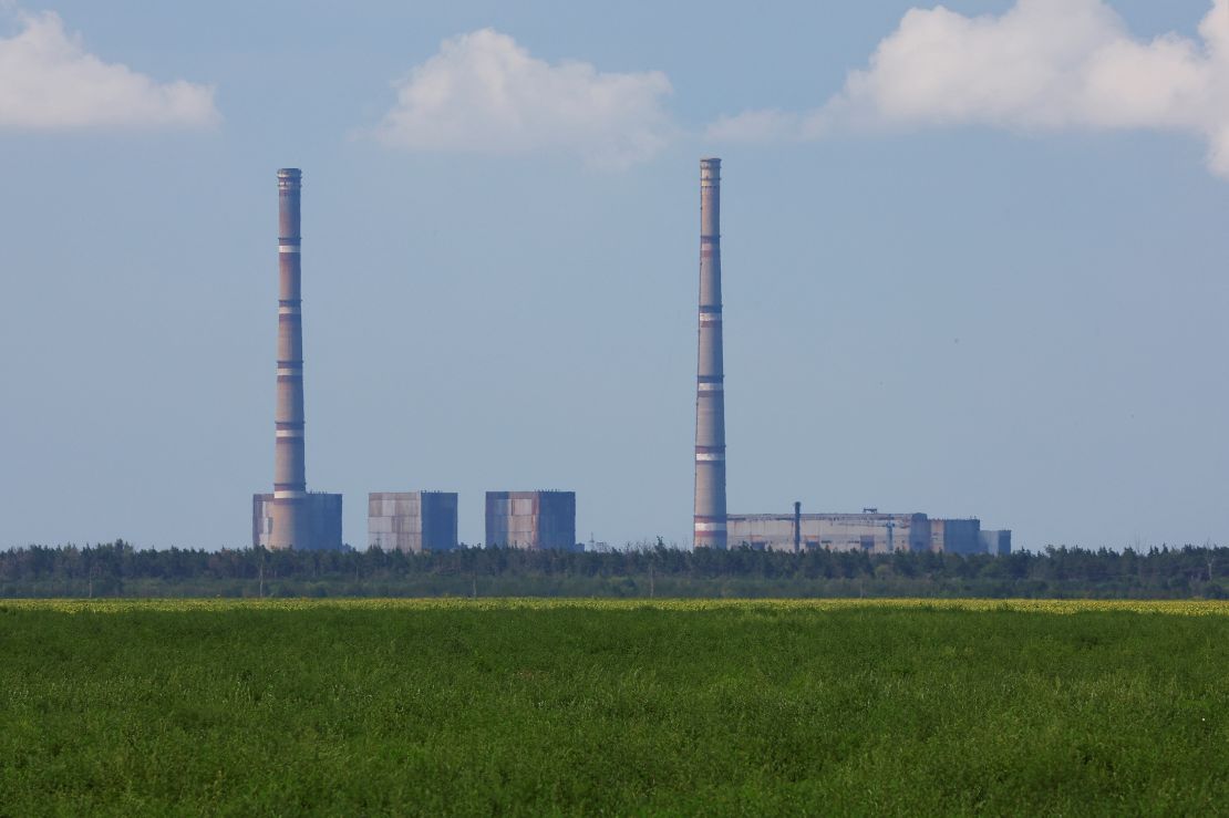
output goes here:
{"type": "Polygon", "coordinates": [[[801,551],[935,551],[1009,554],[1011,532],[981,529],[978,520],[932,520],[924,513],[729,515],[730,547],[801,551]],[[993,549],[993,550],[992,550],[993,549]]]}

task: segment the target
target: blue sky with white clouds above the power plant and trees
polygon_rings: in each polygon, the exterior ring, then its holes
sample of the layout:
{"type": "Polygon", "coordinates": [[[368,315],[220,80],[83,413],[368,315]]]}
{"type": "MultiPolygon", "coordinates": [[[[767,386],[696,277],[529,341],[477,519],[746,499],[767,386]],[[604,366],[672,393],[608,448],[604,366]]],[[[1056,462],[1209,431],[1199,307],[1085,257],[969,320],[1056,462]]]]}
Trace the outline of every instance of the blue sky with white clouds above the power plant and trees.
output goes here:
{"type": "Polygon", "coordinates": [[[249,543],[279,167],[347,542],[689,544],[702,156],[731,512],[1229,544],[1229,0],[0,0],[0,548],[249,543]]]}

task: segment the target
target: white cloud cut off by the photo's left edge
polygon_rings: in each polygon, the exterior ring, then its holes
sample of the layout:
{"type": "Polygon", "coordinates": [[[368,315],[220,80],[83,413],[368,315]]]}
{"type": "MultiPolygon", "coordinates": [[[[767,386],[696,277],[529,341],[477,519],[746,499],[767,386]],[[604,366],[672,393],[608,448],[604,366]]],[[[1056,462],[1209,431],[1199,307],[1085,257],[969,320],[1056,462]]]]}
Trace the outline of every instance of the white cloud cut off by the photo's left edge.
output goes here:
{"type": "Polygon", "coordinates": [[[220,119],[211,87],[160,84],[103,63],[54,12],[17,12],[17,21],[21,29],[0,38],[0,129],[203,128],[220,119]]]}

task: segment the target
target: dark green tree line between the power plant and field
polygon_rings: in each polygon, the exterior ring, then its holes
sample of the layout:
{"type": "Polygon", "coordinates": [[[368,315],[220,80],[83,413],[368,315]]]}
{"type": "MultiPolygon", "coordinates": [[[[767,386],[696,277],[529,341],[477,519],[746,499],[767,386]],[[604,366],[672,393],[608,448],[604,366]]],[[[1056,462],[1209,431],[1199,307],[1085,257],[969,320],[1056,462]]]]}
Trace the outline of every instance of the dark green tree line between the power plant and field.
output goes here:
{"type": "Polygon", "coordinates": [[[1047,548],[1008,556],[696,551],[0,551],[0,597],[1229,598],[1229,548],[1047,548]]]}

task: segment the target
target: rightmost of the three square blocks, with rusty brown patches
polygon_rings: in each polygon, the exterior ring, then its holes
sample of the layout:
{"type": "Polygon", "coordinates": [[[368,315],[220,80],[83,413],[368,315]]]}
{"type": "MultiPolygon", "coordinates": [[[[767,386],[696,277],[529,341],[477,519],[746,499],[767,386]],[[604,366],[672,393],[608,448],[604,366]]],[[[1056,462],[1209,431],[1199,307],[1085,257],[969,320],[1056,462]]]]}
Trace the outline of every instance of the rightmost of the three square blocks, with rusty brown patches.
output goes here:
{"type": "Polygon", "coordinates": [[[488,491],[487,545],[576,548],[575,491],[488,491]]]}

